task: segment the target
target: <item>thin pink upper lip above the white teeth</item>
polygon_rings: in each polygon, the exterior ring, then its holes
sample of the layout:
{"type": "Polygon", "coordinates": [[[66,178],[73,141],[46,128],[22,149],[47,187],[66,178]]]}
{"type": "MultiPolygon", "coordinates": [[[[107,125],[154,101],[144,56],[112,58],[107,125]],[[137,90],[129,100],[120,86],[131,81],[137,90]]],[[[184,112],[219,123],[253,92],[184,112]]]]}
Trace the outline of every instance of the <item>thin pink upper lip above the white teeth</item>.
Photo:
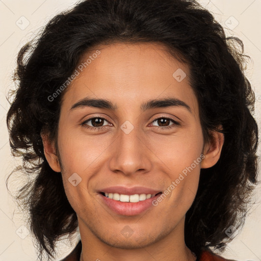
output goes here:
{"type": "Polygon", "coordinates": [[[99,192],[104,193],[118,193],[122,195],[134,195],[134,194],[158,194],[161,192],[160,190],[154,190],[146,187],[123,187],[123,186],[114,186],[114,187],[108,187],[104,189],[100,189],[99,192]]]}

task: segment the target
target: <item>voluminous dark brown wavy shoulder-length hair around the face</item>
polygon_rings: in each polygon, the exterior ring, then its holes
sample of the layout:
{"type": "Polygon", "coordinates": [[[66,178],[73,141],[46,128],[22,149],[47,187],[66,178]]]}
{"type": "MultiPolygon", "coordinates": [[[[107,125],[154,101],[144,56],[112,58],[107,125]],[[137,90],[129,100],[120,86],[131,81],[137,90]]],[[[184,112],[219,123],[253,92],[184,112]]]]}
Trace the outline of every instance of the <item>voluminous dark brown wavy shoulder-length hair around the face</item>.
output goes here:
{"type": "Polygon", "coordinates": [[[28,177],[15,198],[28,209],[39,257],[54,257],[56,242],[78,226],[61,173],[50,168],[41,139],[41,133],[47,134],[58,152],[62,97],[70,87],[53,101],[48,97],[68,80],[87,51],[114,42],[160,43],[190,66],[204,140],[211,141],[218,131],[224,144],[217,164],[200,171],[198,191],[186,214],[185,242],[196,255],[203,249],[213,251],[211,247],[223,251],[231,240],[226,229],[244,224],[257,184],[255,96],[244,73],[249,57],[242,41],[226,37],[196,1],[87,0],[56,15],[36,40],[20,49],[14,72],[17,88],[9,95],[14,97],[7,114],[11,151],[22,159],[13,172],[20,171],[23,180],[28,177]]]}

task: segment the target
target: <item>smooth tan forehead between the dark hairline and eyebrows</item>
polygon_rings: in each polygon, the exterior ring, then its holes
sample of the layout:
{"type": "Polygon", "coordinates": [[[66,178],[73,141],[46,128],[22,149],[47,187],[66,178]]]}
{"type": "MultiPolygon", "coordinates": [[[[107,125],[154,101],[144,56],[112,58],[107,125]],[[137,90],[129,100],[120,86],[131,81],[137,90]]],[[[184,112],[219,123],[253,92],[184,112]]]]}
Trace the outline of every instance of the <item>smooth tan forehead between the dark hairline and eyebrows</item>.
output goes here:
{"type": "Polygon", "coordinates": [[[97,45],[82,57],[81,64],[85,66],[82,66],[82,71],[78,69],[79,75],[64,97],[68,106],[84,97],[106,98],[118,107],[136,103],[138,106],[160,97],[175,97],[189,102],[194,111],[197,109],[189,83],[189,66],[173,58],[164,45],[97,45]],[[100,52],[98,55],[97,50],[100,52]]]}

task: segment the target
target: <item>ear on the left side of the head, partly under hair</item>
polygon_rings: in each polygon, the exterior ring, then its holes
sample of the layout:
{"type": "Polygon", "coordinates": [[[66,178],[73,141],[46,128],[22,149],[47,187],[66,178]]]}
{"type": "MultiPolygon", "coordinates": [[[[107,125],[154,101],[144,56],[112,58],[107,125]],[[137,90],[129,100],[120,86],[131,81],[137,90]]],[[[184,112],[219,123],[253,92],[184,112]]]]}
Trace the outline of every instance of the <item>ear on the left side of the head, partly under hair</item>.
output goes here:
{"type": "Polygon", "coordinates": [[[56,149],[55,149],[55,143],[50,142],[47,135],[42,135],[42,141],[43,141],[43,148],[44,148],[44,155],[45,158],[51,167],[56,172],[61,172],[61,167],[58,161],[56,149]]]}

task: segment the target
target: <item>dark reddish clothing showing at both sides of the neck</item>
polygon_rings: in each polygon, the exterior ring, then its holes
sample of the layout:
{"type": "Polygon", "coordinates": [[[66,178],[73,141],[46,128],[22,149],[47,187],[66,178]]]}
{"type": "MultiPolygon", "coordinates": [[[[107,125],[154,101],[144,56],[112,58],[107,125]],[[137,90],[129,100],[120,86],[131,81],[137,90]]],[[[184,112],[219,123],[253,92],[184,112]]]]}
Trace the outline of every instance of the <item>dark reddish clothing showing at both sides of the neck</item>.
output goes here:
{"type": "MultiPolygon", "coordinates": [[[[82,252],[82,242],[80,241],[73,251],[61,261],[79,261],[82,252]]],[[[212,254],[208,251],[202,251],[200,257],[197,258],[199,261],[235,261],[231,259],[225,259],[219,255],[212,254]]]]}

